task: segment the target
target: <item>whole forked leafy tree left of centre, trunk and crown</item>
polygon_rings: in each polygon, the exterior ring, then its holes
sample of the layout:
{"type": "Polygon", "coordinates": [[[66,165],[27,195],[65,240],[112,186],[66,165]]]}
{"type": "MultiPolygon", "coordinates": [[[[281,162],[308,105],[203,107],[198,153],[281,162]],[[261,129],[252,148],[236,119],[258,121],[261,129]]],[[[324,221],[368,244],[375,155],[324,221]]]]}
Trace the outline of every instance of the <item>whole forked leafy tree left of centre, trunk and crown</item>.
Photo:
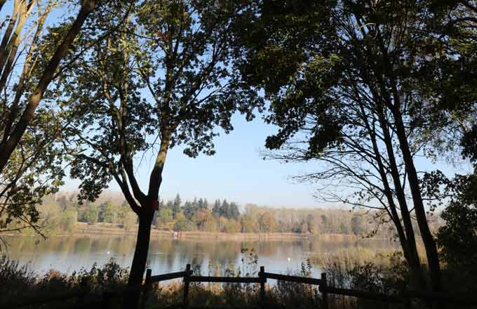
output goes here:
{"type": "MultiPolygon", "coordinates": [[[[228,133],[234,112],[250,120],[262,105],[252,89],[239,87],[228,65],[240,9],[234,1],[140,1],[120,32],[72,59],[57,82],[55,93],[73,117],[67,135],[79,197],[95,199],[114,179],[139,218],[130,287],[142,282],[169,148],[181,145],[189,157],[213,155],[215,128],[228,133]],[[154,157],[145,189],[134,172],[140,153],[154,157]]],[[[114,21],[108,14],[95,18],[105,28],[114,21]]],[[[90,45],[87,35],[82,39],[90,45]]],[[[137,297],[126,305],[133,307],[137,297]]]]}

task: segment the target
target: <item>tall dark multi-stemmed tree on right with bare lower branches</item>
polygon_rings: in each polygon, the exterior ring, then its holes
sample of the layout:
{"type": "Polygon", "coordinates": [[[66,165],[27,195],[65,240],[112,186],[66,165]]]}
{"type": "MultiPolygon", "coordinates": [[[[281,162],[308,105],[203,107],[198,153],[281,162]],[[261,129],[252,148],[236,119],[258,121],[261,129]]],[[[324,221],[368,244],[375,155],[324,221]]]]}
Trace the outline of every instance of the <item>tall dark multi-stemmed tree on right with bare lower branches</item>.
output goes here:
{"type": "Polygon", "coordinates": [[[281,151],[270,157],[321,162],[321,170],[299,179],[325,182],[330,190],[318,194],[328,202],[377,209],[379,224],[391,220],[413,284],[424,289],[414,216],[431,289],[442,291],[414,160],[429,156],[424,133],[443,125],[438,117],[427,117],[436,93],[425,84],[434,75],[423,68],[440,55],[426,48],[432,41],[432,34],[422,31],[427,5],[255,1],[245,15],[256,19],[240,29],[246,52],[236,63],[243,79],[262,86],[271,101],[267,121],[280,129],[266,147],[281,151]]]}

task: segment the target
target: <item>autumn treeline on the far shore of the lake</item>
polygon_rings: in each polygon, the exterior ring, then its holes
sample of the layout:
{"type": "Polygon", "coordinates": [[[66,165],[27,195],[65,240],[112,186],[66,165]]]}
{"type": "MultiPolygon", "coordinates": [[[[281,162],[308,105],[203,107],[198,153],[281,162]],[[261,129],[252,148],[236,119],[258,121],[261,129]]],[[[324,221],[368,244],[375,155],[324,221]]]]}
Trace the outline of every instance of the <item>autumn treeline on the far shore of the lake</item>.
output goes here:
{"type": "MultiPolygon", "coordinates": [[[[97,202],[76,200],[76,195],[60,193],[43,199],[39,207],[45,230],[71,232],[77,222],[112,223],[132,230],[137,216],[119,196],[103,196],[97,202]]],[[[286,209],[246,204],[238,206],[227,199],[208,202],[205,198],[175,199],[159,202],[153,218],[158,230],[204,232],[295,232],[309,235],[377,235],[393,237],[391,224],[376,225],[379,213],[347,209],[286,209]]],[[[431,223],[437,225],[438,223],[431,223]]]]}

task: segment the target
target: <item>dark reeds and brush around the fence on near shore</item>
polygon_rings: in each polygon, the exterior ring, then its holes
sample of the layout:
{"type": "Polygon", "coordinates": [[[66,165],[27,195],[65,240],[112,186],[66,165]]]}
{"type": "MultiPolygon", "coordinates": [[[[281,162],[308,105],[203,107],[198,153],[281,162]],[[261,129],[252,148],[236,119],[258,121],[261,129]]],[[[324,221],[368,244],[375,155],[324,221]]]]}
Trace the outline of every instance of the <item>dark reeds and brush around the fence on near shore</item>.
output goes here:
{"type": "MultiPolygon", "coordinates": [[[[210,263],[207,270],[201,270],[199,265],[192,265],[192,275],[224,276],[224,277],[257,277],[257,255],[253,251],[243,249],[240,265],[215,265],[210,263]]],[[[379,258],[382,263],[370,261],[358,262],[353,258],[330,256],[320,261],[319,267],[325,270],[329,287],[353,289],[370,294],[400,296],[408,286],[410,275],[402,254],[394,253],[379,258]]],[[[304,261],[302,267],[289,275],[311,277],[313,266],[310,261],[304,261]]],[[[18,303],[29,303],[48,298],[48,296],[73,295],[75,292],[84,293],[78,296],[51,301],[48,304],[36,303],[25,305],[23,308],[65,308],[68,304],[98,303],[108,299],[109,308],[116,308],[122,303],[121,291],[127,287],[128,270],[119,267],[111,259],[102,267],[96,265],[90,270],[80,270],[66,275],[50,270],[44,275],[38,275],[28,266],[20,266],[5,256],[0,258],[0,279],[5,284],[0,287],[0,305],[13,306],[18,303]]],[[[452,284],[452,270],[445,269],[448,278],[447,293],[457,295],[462,299],[461,284],[452,284]]],[[[159,274],[154,274],[159,275],[159,274]]],[[[473,280],[475,282],[475,280],[473,280]]],[[[455,281],[454,283],[457,283],[455,281]]],[[[471,284],[471,282],[464,282],[471,284]]],[[[145,308],[179,308],[184,301],[184,285],[182,280],[162,284],[152,284],[144,301],[145,308]]],[[[191,282],[188,292],[189,308],[323,308],[323,294],[318,287],[310,284],[276,281],[267,284],[264,298],[260,295],[260,284],[257,283],[201,283],[191,282]]],[[[475,285],[469,286],[468,292],[475,292],[475,285]]],[[[471,295],[466,293],[466,295],[471,295]]],[[[388,303],[365,298],[328,294],[328,308],[389,308],[388,303]]],[[[142,303],[141,303],[142,304],[142,303]]],[[[412,298],[410,307],[407,304],[393,304],[391,308],[426,308],[429,302],[412,298]]],[[[2,307],[3,308],[3,307],[2,307]]],[[[12,307],[13,308],[13,307],[12,307]]],[[[477,308],[475,305],[449,304],[442,308],[477,308]]]]}

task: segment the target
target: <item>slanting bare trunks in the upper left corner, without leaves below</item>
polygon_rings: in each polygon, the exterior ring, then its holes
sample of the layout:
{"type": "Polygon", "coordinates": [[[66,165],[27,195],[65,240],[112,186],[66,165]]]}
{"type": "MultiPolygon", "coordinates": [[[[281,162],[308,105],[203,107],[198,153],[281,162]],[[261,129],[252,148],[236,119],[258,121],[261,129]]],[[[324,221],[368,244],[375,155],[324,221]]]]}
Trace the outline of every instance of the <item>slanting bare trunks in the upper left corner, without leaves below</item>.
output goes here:
{"type": "MultiPolygon", "coordinates": [[[[5,1],[3,1],[5,2],[5,1]]],[[[8,159],[12,155],[13,151],[20,143],[20,139],[27,130],[27,126],[34,118],[34,112],[39,106],[43,94],[48,88],[48,84],[51,83],[54,74],[60,64],[60,61],[65,58],[67,52],[72,46],[74,39],[79,34],[81,26],[88,18],[91,12],[93,12],[98,6],[97,0],[84,0],[81,1],[81,8],[79,9],[76,19],[72,22],[71,27],[65,37],[62,39],[60,45],[55,48],[53,55],[44,67],[43,71],[38,79],[36,87],[32,93],[29,93],[29,98],[26,104],[22,104],[20,101],[25,95],[25,92],[29,90],[27,85],[32,82],[32,69],[35,69],[36,60],[32,57],[35,49],[38,47],[41,32],[43,31],[43,23],[46,17],[51,12],[54,6],[53,1],[49,1],[45,8],[38,7],[39,14],[37,15],[36,32],[31,38],[27,48],[27,54],[25,55],[25,63],[23,64],[23,70],[18,79],[18,84],[15,86],[15,96],[10,102],[4,102],[2,117],[4,121],[1,122],[0,129],[2,129],[3,138],[0,143],[0,173],[4,170],[8,159]],[[8,104],[8,105],[7,105],[8,104]]],[[[0,70],[2,70],[2,76],[0,77],[0,91],[3,91],[6,87],[6,82],[11,75],[15,74],[14,65],[18,57],[18,51],[20,41],[22,39],[21,32],[25,26],[25,22],[31,16],[36,1],[13,1],[13,14],[8,23],[6,32],[1,42],[0,47],[0,70]],[[15,27],[16,25],[16,27],[15,27]],[[15,31],[13,28],[15,27],[15,31]]],[[[1,9],[1,8],[0,8],[1,9]]],[[[58,41],[58,40],[57,40],[58,41]]],[[[21,49],[20,49],[21,51],[21,49]]]]}

